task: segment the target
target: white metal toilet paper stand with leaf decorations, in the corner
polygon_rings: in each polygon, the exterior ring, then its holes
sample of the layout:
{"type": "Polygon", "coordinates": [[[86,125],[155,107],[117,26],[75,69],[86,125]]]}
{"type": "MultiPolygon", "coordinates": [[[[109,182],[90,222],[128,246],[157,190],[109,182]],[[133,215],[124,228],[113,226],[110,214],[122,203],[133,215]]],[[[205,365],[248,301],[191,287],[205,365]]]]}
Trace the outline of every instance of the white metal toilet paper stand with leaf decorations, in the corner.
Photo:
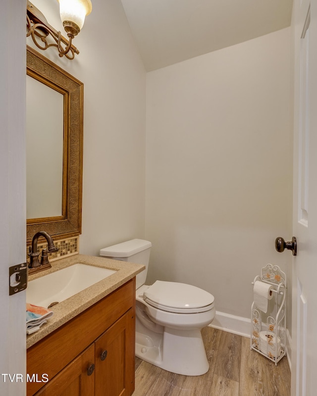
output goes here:
{"type": "Polygon", "coordinates": [[[250,349],[272,360],[276,366],[286,353],[286,275],[278,265],[267,264],[252,285],[256,281],[271,285],[274,296],[268,301],[267,313],[261,311],[255,302],[251,306],[250,349]]]}

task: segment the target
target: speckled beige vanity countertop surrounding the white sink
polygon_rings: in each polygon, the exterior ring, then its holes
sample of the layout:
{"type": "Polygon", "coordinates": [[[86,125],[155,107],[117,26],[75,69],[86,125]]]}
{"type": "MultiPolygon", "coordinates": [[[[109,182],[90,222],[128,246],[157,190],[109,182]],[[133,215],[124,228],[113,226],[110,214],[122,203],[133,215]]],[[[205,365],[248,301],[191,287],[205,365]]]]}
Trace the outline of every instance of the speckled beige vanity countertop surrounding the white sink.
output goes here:
{"type": "MultiPolygon", "coordinates": [[[[77,263],[112,269],[117,272],[111,274],[102,281],[95,283],[93,286],[90,286],[82,292],[77,293],[76,295],[69,297],[64,301],[61,301],[57,305],[54,305],[52,308],[50,308],[54,312],[53,316],[48,320],[46,324],[44,324],[40,328],[40,330],[27,336],[27,348],[40,341],[42,338],[46,337],[48,334],[53,332],[53,330],[57,329],[68,320],[72,319],[85,309],[89,308],[91,305],[95,304],[103,297],[106,297],[108,294],[125,284],[127,281],[129,281],[139,272],[142,272],[145,269],[145,266],[140,264],[112,260],[106,257],[95,257],[86,256],[83,254],[76,254],[70,257],[63,258],[61,260],[54,261],[52,263],[52,268],[30,275],[28,281],[31,282],[34,279],[40,278],[42,276],[48,275],[52,272],[58,271],[60,269],[69,267],[77,263]]],[[[32,301],[27,302],[32,303],[32,301]]]]}

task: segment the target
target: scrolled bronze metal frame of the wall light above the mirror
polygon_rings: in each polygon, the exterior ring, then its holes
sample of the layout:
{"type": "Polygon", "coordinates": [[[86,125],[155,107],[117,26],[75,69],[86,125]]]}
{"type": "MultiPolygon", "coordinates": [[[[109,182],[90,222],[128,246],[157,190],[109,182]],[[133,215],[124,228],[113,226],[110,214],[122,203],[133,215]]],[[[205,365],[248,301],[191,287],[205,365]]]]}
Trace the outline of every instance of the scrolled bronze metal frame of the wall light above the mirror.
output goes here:
{"type": "Polygon", "coordinates": [[[26,36],[32,37],[34,44],[39,49],[48,49],[56,47],[60,57],[65,55],[68,59],[74,59],[75,53],[79,54],[79,50],[72,45],[72,39],[75,33],[67,32],[68,39],[65,39],[60,32],[57,32],[46,20],[42,12],[36,8],[29,0],[26,5],[26,36]],[[54,42],[48,42],[48,38],[52,38],[54,42]],[[64,48],[63,48],[64,46],[64,48]]]}

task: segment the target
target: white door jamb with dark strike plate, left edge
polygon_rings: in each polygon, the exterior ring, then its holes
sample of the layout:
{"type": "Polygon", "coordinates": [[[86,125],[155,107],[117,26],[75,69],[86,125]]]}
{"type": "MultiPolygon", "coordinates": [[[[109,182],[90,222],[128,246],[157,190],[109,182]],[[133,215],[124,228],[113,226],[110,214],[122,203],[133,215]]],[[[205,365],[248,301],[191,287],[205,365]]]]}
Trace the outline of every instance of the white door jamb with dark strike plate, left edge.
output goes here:
{"type": "MultiPolygon", "coordinates": [[[[23,3],[23,2],[22,2],[23,3]]],[[[0,395],[25,395],[25,292],[9,296],[9,266],[25,262],[25,4],[0,14],[0,395]],[[14,26],[14,29],[12,29],[14,26]],[[22,374],[11,383],[2,374],[22,374]],[[4,382],[4,378],[6,381],[4,382]]]]}

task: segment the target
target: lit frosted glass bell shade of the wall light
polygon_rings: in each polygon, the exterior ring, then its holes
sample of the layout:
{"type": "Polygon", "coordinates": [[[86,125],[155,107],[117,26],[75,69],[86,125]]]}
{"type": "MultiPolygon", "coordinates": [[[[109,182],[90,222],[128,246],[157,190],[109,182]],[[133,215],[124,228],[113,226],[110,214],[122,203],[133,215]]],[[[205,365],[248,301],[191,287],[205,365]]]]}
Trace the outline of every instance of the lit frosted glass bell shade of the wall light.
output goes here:
{"type": "Polygon", "coordinates": [[[57,0],[62,22],[71,21],[82,29],[85,16],[90,14],[93,6],[90,0],[57,0]]]}

